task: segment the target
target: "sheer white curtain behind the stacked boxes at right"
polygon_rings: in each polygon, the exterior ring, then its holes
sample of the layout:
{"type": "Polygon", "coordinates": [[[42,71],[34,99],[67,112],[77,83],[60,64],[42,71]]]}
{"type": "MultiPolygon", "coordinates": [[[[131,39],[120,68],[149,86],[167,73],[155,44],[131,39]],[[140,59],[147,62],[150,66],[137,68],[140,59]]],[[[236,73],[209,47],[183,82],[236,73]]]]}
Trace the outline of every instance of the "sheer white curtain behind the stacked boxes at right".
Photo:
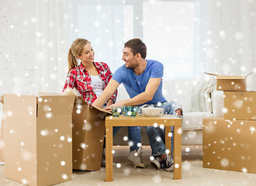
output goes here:
{"type": "Polygon", "coordinates": [[[195,0],[195,74],[246,75],[256,90],[256,1],[195,0]]]}

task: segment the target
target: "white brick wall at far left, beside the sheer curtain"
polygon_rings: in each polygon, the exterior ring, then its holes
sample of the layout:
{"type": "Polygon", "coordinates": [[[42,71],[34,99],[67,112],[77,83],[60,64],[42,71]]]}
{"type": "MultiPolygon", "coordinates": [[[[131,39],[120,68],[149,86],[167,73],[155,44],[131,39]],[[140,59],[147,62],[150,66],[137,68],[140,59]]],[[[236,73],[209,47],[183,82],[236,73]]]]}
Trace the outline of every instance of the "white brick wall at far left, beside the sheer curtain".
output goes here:
{"type": "Polygon", "coordinates": [[[35,92],[35,2],[0,1],[0,94],[35,92]]]}

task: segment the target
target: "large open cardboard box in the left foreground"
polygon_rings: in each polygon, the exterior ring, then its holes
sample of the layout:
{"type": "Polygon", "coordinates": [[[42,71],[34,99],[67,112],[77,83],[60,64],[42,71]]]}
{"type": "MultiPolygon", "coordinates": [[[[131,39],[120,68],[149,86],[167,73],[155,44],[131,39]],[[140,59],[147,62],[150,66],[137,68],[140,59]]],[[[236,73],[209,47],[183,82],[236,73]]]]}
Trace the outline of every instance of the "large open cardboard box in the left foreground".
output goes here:
{"type": "Polygon", "coordinates": [[[74,96],[4,95],[5,177],[29,185],[71,180],[74,96]]]}

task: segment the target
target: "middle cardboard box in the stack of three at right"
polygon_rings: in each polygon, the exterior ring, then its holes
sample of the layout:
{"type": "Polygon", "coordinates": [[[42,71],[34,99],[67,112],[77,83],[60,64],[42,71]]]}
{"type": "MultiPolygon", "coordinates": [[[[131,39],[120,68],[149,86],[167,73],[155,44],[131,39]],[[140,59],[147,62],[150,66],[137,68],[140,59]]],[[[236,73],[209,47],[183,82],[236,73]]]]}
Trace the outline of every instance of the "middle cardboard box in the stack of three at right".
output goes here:
{"type": "Polygon", "coordinates": [[[224,119],[256,120],[256,91],[224,91],[224,119]]]}

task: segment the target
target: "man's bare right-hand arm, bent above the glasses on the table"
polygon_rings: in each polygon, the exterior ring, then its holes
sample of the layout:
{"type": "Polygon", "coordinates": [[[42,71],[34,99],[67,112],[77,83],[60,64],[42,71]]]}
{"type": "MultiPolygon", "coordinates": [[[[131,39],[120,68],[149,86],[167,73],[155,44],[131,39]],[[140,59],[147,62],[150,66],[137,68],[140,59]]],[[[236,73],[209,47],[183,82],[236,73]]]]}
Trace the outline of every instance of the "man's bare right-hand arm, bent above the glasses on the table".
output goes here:
{"type": "Polygon", "coordinates": [[[123,100],[121,102],[117,102],[113,105],[116,106],[132,106],[132,105],[142,105],[145,102],[150,102],[155,92],[157,91],[157,88],[159,87],[159,84],[161,83],[161,78],[150,78],[150,80],[147,83],[147,87],[144,92],[140,93],[140,95],[137,95],[133,98],[123,100]]]}

